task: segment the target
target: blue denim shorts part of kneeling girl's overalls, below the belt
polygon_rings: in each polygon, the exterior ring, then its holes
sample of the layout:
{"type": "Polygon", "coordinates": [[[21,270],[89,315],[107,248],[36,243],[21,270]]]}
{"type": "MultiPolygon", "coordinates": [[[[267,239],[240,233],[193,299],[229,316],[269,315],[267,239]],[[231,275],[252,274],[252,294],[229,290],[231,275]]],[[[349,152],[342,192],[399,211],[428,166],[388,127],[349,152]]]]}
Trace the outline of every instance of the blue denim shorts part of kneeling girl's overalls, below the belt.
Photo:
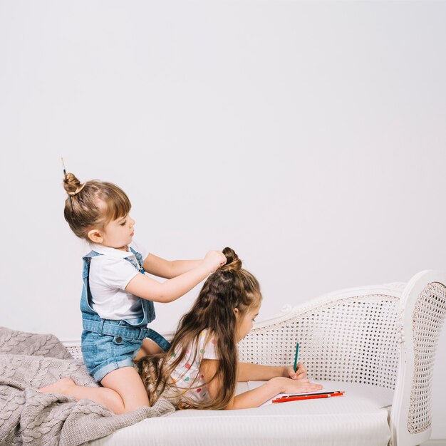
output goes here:
{"type": "Polygon", "coordinates": [[[98,383],[113,370],[133,367],[133,358],[140,350],[142,339],[82,332],[82,356],[88,373],[98,383]]]}

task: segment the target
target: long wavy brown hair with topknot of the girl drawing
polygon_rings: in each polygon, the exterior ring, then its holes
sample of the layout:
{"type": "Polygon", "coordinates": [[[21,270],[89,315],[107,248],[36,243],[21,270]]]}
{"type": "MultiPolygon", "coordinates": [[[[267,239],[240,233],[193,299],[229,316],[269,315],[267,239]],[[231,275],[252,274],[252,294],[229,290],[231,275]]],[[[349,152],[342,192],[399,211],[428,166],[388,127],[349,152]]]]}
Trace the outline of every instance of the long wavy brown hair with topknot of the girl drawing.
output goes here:
{"type": "MultiPolygon", "coordinates": [[[[223,409],[231,401],[237,384],[237,318],[234,308],[243,317],[247,310],[259,304],[260,286],[257,279],[242,268],[242,261],[231,249],[224,248],[227,263],[212,273],[204,282],[190,311],[182,316],[169,351],[146,356],[136,361],[138,371],[145,383],[150,405],[162,394],[176,400],[179,409],[223,409]],[[212,333],[217,339],[216,353],[219,358],[217,373],[222,388],[214,400],[197,403],[190,400],[182,391],[175,391],[175,381],[171,374],[187,354],[187,348],[198,345],[199,334],[203,330],[212,333]],[[175,359],[172,361],[172,357],[175,359]]],[[[195,358],[194,358],[195,361],[195,358]]]]}

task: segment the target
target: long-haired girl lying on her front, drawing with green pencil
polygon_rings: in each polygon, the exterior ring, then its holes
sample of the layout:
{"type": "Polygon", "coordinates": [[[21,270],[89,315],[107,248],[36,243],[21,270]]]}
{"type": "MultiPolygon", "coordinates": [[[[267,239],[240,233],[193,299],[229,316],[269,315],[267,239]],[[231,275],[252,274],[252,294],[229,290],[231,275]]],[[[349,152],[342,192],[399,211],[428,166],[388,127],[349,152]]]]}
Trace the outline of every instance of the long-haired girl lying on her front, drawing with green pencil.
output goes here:
{"type": "Polygon", "coordinates": [[[259,313],[259,282],[230,248],[226,264],[205,281],[197,300],[182,316],[167,352],[136,361],[150,405],[160,396],[178,409],[255,408],[278,393],[320,390],[306,368],[238,363],[237,343],[259,313]],[[259,388],[235,395],[237,381],[267,380],[259,388]]]}

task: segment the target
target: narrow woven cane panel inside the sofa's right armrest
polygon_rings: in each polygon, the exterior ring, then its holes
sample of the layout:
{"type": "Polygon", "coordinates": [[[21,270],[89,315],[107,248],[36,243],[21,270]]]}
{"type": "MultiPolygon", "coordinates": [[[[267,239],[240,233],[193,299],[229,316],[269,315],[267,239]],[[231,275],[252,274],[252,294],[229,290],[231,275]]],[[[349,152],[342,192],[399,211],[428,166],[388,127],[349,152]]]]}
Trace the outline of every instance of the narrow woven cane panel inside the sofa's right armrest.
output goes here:
{"type": "Polygon", "coordinates": [[[432,375],[445,318],[446,288],[442,284],[429,284],[420,294],[413,311],[415,368],[408,414],[410,433],[423,432],[432,424],[432,375]]]}

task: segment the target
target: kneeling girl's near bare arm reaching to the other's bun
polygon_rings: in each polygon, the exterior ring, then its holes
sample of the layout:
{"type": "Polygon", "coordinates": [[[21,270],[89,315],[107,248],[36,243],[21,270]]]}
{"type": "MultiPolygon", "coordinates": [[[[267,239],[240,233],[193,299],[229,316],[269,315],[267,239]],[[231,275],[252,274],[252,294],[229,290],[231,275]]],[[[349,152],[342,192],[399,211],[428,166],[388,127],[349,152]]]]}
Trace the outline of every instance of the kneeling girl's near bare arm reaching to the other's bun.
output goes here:
{"type": "Polygon", "coordinates": [[[125,287],[135,296],[155,302],[172,302],[199,284],[209,273],[224,264],[226,257],[221,251],[209,251],[194,269],[160,284],[145,274],[137,274],[125,287]]]}

